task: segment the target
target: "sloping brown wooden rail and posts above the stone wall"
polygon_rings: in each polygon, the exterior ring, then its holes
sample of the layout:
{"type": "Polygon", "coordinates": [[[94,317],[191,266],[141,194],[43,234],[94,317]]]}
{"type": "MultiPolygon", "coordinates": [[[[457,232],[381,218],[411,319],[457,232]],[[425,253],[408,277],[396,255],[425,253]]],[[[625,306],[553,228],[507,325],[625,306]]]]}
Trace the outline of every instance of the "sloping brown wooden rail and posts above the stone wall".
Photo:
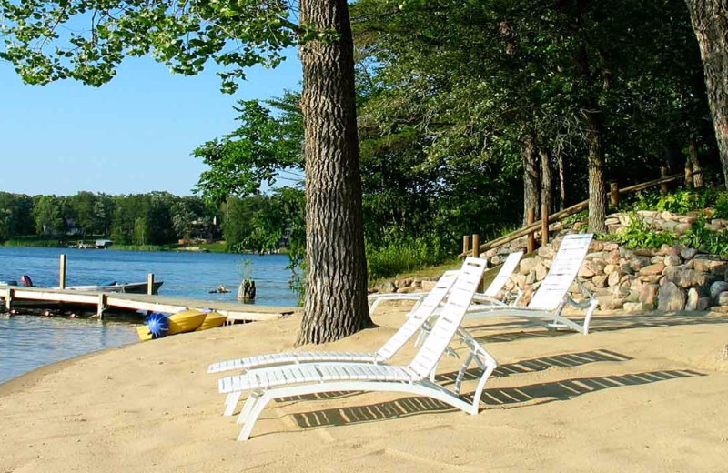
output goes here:
{"type": "MultiPolygon", "coordinates": [[[[609,195],[609,201],[612,204],[612,206],[619,205],[619,196],[625,195],[625,194],[631,194],[632,192],[639,192],[644,189],[649,189],[650,187],[654,186],[661,186],[661,193],[662,195],[667,193],[667,185],[675,182],[680,181],[682,179],[686,180],[686,186],[691,186],[693,183],[687,183],[687,178],[690,177],[691,180],[693,178],[693,172],[692,169],[688,171],[688,168],[686,166],[685,173],[678,173],[673,174],[672,176],[667,176],[667,168],[661,169],[661,177],[657,179],[653,179],[652,181],[643,182],[642,184],[635,184],[634,186],[624,187],[622,189],[617,186],[616,183],[612,183],[610,186],[610,195],[609,195]]],[[[529,225],[523,226],[522,228],[508,234],[504,235],[503,237],[498,237],[494,240],[490,240],[489,242],[483,243],[478,247],[478,251],[476,252],[476,246],[473,245],[472,249],[470,249],[470,236],[465,236],[462,239],[463,247],[462,247],[462,253],[460,253],[460,257],[467,257],[470,255],[475,255],[482,253],[483,251],[488,251],[490,248],[493,247],[501,247],[505,245],[506,243],[511,243],[511,241],[521,238],[521,237],[529,237],[529,244],[527,245],[528,251],[531,252],[535,249],[535,238],[533,237],[533,234],[537,232],[538,230],[541,230],[543,232],[544,228],[548,228],[548,224],[560,222],[564,218],[568,216],[572,216],[574,214],[578,214],[582,210],[586,210],[589,207],[589,200],[584,200],[583,202],[580,202],[579,204],[575,204],[573,206],[564,208],[560,212],[556,212],[555,214],[551,214],[550,216],[544,216],[542,215],[540,222],[534,223],[534,216],[529,214],[529,225]],[[548,222],[548,223],[547,223],[548,222]],[[532,247],[531,247],[532,245],[532,247]]],[[[533,211],[533,209],[530,209],[533,211]]],[[[543,211],[543,207],[541,207],[541,211],[543,211]]],[[[545,232],[546,235],[548,235],[548,231],[545,232]]],[[[473,236],[477,237],[477,236],[473,236]]],[[[473,238],[475,239],[475,238],[473,238]]],[[[542,238],[541,244],[545,245],[543,241],[545,240],[546,243],[549,241],[549,237],[542,238]]]]}

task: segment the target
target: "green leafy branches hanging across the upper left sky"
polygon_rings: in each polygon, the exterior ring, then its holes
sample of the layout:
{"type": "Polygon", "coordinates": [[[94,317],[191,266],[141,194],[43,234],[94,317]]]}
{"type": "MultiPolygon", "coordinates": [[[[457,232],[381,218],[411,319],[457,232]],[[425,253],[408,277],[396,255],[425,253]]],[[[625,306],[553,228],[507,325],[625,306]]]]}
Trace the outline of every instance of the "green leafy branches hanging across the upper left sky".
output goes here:
{"type": "Polygon", "coordinates": [[[278,65],[298,42],[288,3],[278,0],[0,0],[0,15],[0,58],[36,85],[73,78],[101,86],[126,55],[151,54],[183,75],[208,61],[224,65],[222,88],[233,92],[246,67],[278,65]]]}

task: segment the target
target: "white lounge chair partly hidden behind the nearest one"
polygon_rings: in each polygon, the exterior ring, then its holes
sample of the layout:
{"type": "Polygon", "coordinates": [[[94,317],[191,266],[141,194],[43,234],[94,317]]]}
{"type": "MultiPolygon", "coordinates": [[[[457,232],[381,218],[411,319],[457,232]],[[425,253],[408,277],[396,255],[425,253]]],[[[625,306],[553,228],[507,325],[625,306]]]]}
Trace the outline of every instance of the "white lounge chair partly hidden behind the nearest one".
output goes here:
{"type": "Polygon", "coordinates": [[[381,363],[393,357],[401,347],[427,322],[428,318],[440,306],[448,295],[450,287],[458,277],[458,271],[446,271],[424,298],[419,307],[412,310],[399,330],[379,349],[373,353],[349,353],[339,351],[305,351],[288,353],[271,353],[257,357],[237,358],[213,363],[207,367],[207,373],[220,373],[234,369],[245,370],[256,367],[275,365],[291,365],[298,363],[314,363],[342,361],[351,363],[381,363]]]}

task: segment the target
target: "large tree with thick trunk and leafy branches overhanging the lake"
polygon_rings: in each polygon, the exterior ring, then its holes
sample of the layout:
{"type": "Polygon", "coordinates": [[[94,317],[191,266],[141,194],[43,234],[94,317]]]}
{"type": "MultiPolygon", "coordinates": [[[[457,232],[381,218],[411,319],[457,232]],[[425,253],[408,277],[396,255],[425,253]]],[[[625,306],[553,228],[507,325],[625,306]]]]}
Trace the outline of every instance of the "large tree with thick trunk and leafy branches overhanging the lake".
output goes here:
{"type": "Polygon", "coordinates": [[[224,90],[233,91],[246,67],[278,65],[286,47],[300,45],[309,274],[298,343],[346,337],[371,323],[346,0],[301,0],[299,25],[284,0],[0,0],[0,15],[0,57],[29,84],[74,78],[101,86],[126,55],[152,54],[186,75],[214,60],[224,90]],[[81,24],[90,29],[78,33],[81,24]]]}

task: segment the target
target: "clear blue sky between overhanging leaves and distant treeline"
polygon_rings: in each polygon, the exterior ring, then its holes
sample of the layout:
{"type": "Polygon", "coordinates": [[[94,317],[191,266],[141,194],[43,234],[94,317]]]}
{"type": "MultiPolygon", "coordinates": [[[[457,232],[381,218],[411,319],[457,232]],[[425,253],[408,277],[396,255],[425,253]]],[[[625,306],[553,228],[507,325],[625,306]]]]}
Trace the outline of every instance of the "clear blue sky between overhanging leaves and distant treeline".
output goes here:
{"type": "Polygon", "coordinates": [[[205,166],[190,153],[235,129],[235,101],[278,96],[300,80],[293,50],[276,69],[251,69],[233,96],[220,92],[212,70],[172,75],[147,57],[126,59],[100,88],[25,86],[0,62],[0,190],[191,195],[205,166]]]}

